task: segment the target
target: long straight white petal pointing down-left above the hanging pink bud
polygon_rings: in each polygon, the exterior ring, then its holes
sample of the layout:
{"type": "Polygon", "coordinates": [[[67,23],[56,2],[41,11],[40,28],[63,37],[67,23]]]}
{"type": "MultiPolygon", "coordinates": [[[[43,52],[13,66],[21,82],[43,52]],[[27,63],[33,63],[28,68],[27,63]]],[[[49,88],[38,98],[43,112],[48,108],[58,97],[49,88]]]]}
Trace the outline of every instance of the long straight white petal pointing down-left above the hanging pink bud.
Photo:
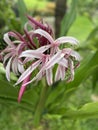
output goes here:
{"type": "Polygon", "coordinates": [[[26,79],[26,77],[28,77],[38,67],[40,62],[41,62],[40,60],[36,61],[26,71],[24,71],[24,73],[18,79],[16,85],[22,82],[24,79],[26,79]]]}

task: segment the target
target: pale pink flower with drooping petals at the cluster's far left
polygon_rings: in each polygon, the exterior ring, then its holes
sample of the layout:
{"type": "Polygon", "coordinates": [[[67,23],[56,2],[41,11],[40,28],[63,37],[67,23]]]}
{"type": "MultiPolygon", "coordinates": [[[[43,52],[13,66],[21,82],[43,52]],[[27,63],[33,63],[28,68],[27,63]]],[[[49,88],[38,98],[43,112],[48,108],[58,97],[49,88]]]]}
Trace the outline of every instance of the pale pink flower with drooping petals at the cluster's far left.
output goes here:
{"type": "Polygon", "coordinates": [[[21,48],[23,48],[23,42],[21,41],[11,41],[9,39],[9,34],[6,33],[4,35],[4,41],[8,44],[8,46],[1,52],[3,57],[3,64],[6,69],[6,77],[7,80],[10,81],[10,71],[12,70],[16,75],[19,73],[23,73],[24,66],[22,61],[19,59],[19,54],[21,53],[21,48]],[[15,45],[20,43],[18,45],[15,45]]]}

